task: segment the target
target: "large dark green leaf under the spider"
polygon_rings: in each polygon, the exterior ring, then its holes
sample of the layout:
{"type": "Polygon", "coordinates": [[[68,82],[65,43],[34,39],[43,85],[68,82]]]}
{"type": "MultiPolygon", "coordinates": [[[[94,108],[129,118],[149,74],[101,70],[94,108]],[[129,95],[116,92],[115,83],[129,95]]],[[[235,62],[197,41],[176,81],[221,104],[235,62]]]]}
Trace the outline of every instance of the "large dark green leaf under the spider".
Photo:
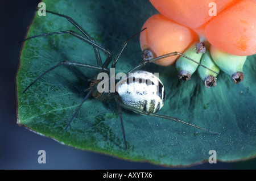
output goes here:
{"type": "MultiPolygon", "coordinates": [[[[71,16],[98,44],[116,55],[123,42],[141,30],[154,7],[147,0],[133,1],[43,1],[47,10],[71,16]]],[[[27,37],[47,32],[73,30],[68,20],[37,13],[27,37]]],[[[101,53],[102,60],[106,55],[101,53]]],[[[234,84],[220,73],[217,86],[205,88],[196,74],[183,82],[174,66],[150,64],[143,69],[159,72],[166,89],[166,103],[158,113],[221,133],[123,110],[128,149],[114,103],[90,98],[64,131],[82,102],[95,70],[62,65],[44,75],[24,94],[22,91],[40,74],[63,60],[96,64],[92,46],[71,35],[37,37],[24,42],[16,75],[18,124],[75,148],[133,161],[166,166],[188,166],[208,161],[216,150],[218,161],[255,157],[256,56],[243,68],[245,79],[234,84]]],[[[126,72],[142,61],[139,38],[131,40],[118,61],[116,73],[126,72]]]]}

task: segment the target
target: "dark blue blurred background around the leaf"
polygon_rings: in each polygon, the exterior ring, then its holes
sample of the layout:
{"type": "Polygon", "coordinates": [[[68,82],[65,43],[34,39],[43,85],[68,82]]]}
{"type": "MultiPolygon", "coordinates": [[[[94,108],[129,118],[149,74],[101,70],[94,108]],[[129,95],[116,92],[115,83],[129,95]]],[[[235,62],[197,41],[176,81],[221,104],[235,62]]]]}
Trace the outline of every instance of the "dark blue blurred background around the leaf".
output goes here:
{"type": "MultiPolygon", "coordinates": [[[[39,2],[1,1],[0,169],[170,169],[77,150],[16,124],[15,74],[21,46],[17,43],[26,35],[39,2]],[[38,163],[41,149],[46,151],[46,164],[38,163]]],[[[185,169],[255,169],[255,161],[204,163],[185,169]]]]}

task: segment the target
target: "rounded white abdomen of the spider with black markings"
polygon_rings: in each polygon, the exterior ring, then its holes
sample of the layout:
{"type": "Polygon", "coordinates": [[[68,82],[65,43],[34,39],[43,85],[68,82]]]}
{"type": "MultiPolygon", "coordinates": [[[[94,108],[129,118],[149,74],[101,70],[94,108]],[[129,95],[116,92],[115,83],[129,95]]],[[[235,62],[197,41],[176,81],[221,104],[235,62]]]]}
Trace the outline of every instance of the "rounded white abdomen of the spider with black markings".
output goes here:
{"type": "Polygon", "coordinates": [[[127,74],[127,79],[119,81],[117,92],[122,103],[151,113],[163,107],[166,96],[160,79],[143,70],[127,74]]]}

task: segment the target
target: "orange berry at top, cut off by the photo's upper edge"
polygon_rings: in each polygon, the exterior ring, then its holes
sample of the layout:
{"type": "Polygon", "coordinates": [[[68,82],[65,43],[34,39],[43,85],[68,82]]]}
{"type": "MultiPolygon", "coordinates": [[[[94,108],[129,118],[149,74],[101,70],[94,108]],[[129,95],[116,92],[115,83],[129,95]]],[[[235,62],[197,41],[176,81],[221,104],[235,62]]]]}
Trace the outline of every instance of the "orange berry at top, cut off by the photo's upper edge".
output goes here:
{"type": "Polygon", "coordinates": [[[150,0],[161,14],[186,27],[199,29],[208,20],[212,4],[216,4],[217,14],[238,0],[150,0]]]}

